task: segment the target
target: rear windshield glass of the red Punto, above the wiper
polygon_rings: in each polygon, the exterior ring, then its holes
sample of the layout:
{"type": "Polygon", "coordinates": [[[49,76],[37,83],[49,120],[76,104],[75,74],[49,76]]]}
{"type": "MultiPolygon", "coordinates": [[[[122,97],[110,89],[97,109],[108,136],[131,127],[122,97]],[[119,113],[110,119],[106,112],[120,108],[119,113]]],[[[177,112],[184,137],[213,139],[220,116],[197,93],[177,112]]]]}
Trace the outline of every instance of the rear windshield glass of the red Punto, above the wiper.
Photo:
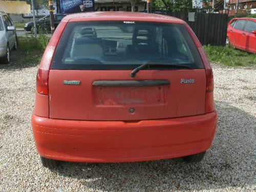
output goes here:
{"type": "Polygon", "coordinates": [[[125,21],[68,23],[51,68],[130,70],[147,62],[203,68],[183,25],[125,21]]]}

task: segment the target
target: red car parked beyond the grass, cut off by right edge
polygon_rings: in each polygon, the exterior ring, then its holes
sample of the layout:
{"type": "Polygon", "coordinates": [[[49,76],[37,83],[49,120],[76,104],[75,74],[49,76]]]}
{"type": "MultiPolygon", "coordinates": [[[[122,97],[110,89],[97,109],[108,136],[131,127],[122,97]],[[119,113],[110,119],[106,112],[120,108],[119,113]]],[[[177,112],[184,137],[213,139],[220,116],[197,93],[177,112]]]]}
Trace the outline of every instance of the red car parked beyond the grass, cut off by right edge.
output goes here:
{"type": "Polygon", "coordinates": [[[233,18],[228,23],[226,44],[256,53],[256,18],[233,18]]]}

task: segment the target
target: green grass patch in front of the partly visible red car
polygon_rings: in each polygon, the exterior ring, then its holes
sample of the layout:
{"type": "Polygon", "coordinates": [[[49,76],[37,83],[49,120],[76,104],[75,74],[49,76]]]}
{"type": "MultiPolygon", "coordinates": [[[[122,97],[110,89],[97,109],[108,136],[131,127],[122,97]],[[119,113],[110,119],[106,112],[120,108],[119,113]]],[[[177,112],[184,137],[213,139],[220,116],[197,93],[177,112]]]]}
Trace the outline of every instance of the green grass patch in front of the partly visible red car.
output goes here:
{"type": "Polygon", "coordinates": [[[256,54],[247,53],[231,46],[204,46],[211,62],[222,63],[225,66],[255,66],[256,54]]]}

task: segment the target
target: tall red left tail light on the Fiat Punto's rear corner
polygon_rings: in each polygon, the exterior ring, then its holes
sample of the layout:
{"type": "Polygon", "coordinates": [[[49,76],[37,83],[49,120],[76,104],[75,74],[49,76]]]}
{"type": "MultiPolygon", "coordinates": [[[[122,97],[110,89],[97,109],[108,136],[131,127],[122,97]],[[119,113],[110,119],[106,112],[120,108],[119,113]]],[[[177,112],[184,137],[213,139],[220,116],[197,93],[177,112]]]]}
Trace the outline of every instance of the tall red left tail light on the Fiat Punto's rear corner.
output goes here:
{"type": "Polygon", "coordinates": [[[62,31],[65,29],[67,23],[61,22],[56,31],[53,33],[53,36],[42,55],[42,59],[39,65],[39,69],[36,76],[36,91],[41,95],[48,95],[48,77],[50,72],[50,67],[52,59],[54,56],[55,49],[57,47],[58,41],[62,34],[62,31]]]}

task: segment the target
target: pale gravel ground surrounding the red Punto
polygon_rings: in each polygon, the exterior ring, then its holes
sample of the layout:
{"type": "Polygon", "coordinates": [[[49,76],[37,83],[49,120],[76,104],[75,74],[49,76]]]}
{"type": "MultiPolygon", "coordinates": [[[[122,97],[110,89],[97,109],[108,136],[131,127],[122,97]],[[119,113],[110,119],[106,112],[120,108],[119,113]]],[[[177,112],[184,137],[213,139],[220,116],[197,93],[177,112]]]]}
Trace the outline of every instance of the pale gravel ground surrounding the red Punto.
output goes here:
{"type": "Polygon", "coordinates": [[[181,159],[42,167],[30,125],[37,66],[0,66],[0,191],[255,191],[255,68],[213,65],[219,114],[199,164],[181,159]]]}

